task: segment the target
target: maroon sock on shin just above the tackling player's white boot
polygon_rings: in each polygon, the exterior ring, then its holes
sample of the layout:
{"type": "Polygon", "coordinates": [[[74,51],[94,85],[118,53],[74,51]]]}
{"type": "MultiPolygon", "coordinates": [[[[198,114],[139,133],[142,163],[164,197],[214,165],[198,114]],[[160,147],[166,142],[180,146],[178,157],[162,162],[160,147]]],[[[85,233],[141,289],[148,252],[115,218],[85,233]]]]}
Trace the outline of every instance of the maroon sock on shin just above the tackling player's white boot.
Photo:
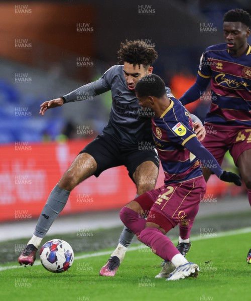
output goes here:
{"type": "Polygon", "coordinates": [[[171,261],[173,256],[180,254],[170,238],[165,236],[157,228],[146,228],[141,231],[140,240],[147,246],[152,248],[152,252],[163,258],[171,261]]]}

